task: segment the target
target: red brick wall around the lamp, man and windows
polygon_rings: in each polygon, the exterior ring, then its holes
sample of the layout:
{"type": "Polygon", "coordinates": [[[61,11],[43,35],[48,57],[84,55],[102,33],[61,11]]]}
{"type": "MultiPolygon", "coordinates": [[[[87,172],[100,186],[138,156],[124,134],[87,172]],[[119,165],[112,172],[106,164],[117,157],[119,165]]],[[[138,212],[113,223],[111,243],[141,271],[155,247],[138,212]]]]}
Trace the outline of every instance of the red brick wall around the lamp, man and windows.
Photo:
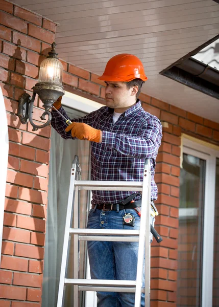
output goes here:
{"type": "MultiPolygon", "coordinates": [[[[0,306],[40,306],[45,242],[51,128],[32,131],[17,117],[18,99],[32,94],[39,64],[54,40],[55,24],[0,0],[0,85],[9,126],[9,164],[5,202],[0,306]]],[[[63,63],[69,92],[104,103],[104,82],[95,74],[63,63]]],[[[157,157],[159,197],[157,230],[163,242],[152,244],[151,306],[176,307],[180,136],[219,143],[219,125],[141,94],[143,108],[168,123],[157,157]]],[[[35,101],[34,119],[41,102],[35,101]]]]}

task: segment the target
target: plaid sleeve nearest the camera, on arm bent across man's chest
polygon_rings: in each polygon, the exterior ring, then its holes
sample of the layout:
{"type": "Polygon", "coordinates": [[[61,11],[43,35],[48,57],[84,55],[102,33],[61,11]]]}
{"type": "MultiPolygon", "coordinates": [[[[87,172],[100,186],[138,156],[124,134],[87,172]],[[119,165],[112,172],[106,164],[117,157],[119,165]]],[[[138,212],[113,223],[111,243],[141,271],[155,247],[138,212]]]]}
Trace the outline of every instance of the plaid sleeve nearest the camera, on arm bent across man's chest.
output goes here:
{"type": "Polygon", "coordinates": [[[161,144],[162,125],[156,117],[150,117],[143,126],[139,136],[103,131],[102,144],[128,157],[153,158],[161,144]]]}

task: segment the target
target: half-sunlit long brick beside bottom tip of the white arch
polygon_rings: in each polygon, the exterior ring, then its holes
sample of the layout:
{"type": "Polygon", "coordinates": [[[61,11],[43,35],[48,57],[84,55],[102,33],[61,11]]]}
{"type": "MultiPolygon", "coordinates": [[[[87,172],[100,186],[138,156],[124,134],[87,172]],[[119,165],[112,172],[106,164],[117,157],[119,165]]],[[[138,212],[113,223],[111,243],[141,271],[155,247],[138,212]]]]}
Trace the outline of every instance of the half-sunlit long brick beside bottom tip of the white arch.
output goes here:
{"type": "Polygon", "coordinates": [[[30,243],[30,232],[16,228],[4,227],[3,239],[21,243],[30,243]]]}

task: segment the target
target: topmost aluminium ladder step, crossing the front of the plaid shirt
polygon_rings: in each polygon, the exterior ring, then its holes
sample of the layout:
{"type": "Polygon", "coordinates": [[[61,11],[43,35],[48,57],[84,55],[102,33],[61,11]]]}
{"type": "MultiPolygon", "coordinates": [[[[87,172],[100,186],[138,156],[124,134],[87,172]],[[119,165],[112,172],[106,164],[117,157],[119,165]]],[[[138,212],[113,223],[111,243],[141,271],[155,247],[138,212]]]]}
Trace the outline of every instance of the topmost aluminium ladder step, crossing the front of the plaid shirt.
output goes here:
{"type": "Polygon", "coordinates": [[[88,181],[76,180],[75,186],[80,190],[100,191],[142,191],[142,182],[138,181],[88,181]]]}

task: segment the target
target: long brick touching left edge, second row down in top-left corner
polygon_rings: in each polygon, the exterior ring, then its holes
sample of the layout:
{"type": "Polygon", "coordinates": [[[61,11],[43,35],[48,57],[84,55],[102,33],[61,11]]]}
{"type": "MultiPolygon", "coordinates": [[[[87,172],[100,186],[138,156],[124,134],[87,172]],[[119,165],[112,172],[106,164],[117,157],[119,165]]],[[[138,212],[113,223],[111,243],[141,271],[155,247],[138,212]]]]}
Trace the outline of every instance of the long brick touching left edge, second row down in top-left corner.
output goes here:
{"type": "Polygon", "coordinates": [[[27,21],[0,11],[1,24],[16,31],[27,33],[27,21]]]}

